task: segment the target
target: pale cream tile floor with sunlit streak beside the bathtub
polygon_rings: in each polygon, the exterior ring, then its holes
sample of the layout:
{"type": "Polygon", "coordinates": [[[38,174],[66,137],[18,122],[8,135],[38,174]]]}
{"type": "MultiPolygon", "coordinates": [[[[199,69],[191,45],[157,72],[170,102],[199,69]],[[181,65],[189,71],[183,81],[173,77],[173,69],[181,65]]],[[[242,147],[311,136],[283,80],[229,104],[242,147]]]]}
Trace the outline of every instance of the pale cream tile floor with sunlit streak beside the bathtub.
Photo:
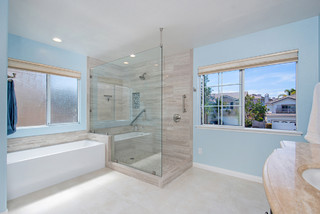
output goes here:
{"type": "Polygon", "coordinates": [[[9,214],[263,214],[262,184],[191,168],[160,189],[108,168],[8,202],[9,214]]]}

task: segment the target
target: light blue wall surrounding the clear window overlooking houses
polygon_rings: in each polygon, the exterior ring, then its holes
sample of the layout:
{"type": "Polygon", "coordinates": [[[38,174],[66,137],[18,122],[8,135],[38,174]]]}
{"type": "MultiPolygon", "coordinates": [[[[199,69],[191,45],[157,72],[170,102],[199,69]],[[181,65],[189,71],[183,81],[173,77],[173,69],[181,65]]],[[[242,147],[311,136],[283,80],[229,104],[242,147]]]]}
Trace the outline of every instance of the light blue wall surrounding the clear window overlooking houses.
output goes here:
{"type": "Polygon", "coordinates": [[[275,27],[194,49],[194,162],[262,175],[265,160],[281,140],[304,141],[303,136],[258,134],[196,128],[200,124],[199,66],[299,49],[297,64],[297,126],[306,133],[313,87],[319,80],[319,18],[275,27]],[[198,148],[203,154],[198,154],[198,148]]]}

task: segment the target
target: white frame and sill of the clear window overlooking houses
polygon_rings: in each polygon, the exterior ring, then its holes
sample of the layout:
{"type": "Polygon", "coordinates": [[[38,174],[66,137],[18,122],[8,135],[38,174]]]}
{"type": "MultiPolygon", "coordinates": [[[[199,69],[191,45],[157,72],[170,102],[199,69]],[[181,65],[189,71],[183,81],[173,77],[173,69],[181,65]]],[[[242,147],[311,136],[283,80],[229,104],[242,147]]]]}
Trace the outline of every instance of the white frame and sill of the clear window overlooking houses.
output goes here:
{"type": "MultiPolygon", "coordinates": [[[[287,52],[296,52],[298,54],[298,50],[293,50],[293,51],[287,51],[287,52]]],[[[286,52],[280,52],[279,54],[281,53],[286,53],[286,52]]],[[[278,54],[278,53],[276,53],[278,54]]],[[[276,55],[276,54],[270,54],[270,55],[276,55]]],[[[266,57],[268,57],[268,55],[265,55],[266,57]]],[[[216,130],[231,130],[231,131],[240,131],[240,132],[256,132],[256,133],[272,133],[272,134],[285,134],[285,135],[294,135],[294,136],[301,136],[303,133],[298,131],[298,117],[297,117],[297,112],[298,112],[298,106],[297,106],[297,103],[298,103],[298,96],[296,96],[296,130],[280,130],[280,129],[266,129],[266,128],[249,128],[249,127],[245,127],[245,70],[247,68],[240,68],[240,69],[237,69],[239,70],[239,73],[240,73],[240,79],[239,79],[239,84],[241,85],[240,87],[240,97],[241,97],[241,100],[240,100],[240,103],[242,103],[240,105],[241,107],[241,112],[242,112],[242,116],[240,117],[240,125],[220,125],[220,124],[204,124],[204,93],[202,91],[204,91],[204,81],[203,81],[203,76],[204,75],[210,75],[210,74],[213,74],[213,73],[224,73],[224,72],[228,72],[228,71],[233,71],[235,69],[232,69],[232,70],[228,70],[228,69],[225,69],[225,66],[230,63],[230,64],[236,64],[237,62],[241,62],[241,61],[250,61],[250,60],[254,60],[254,58],[263,58],[264,56],[258,56],[258,57],[252,57],[252,58],[248,58],[248,59],[243,59],[243,60],[235,60],[235,61],[231,61],[231,62],[226,62],[226,63],[218,63],[218,64],[215,64],[215,65],[211,65],[212,67],[216,66],[217,65],[217,68],[219,68],[219,66],[221,68],[223,68],[222,71],[214,71],[214,72],[208,72],[208,68],[210,68],[211,66],[204,66],[204,67],[199,67],[198,68],[198,85],[200,86],[200,90],[198,92],[198,96],[200,97],[199,99],[199,119],[200,119],[200,125],[197,125],[196,128],[200,128],[200,129],[216,129],[216,130]],[[203,70],[202,71],[202,74],[201,73],[201,69],[203,70]]],[[[291,59],[290,60],[283,60],[283,61],[277,61],[276,63],[275,62],[271,62],[271,63],[264,63],[263,65],[257,65],[257,66],[250,66],[248,68],[258,68],[258,67],[264,67],[264,66],[270,66],[270,65],[276,65],[276,64],[286,64],[286,63],[290,63],[290,62],[295,62],[295,77],[297,77],[297,72],[298,72],[298,58],[296,60],[294,59],[291,59]]],[[[216,69],[216,68],[214,68],[216,69]]],[[[298,91],[298,84],[297,84],[297,78],[295,78],[295,89],[298,91]]],[[[208,86],[207,86],[208,87],[208,86]]],[[[210,86],[209,86],[210,87],[210,86]]]]}

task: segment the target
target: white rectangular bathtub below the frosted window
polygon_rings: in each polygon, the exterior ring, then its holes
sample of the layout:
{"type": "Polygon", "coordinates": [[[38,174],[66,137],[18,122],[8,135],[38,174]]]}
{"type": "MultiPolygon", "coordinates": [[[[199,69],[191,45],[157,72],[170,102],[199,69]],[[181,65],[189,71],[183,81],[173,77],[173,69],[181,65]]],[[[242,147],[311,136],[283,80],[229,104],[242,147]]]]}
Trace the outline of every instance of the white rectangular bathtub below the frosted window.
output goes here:
{"type": "Polygon", "coordinates": [[[8,154],[8,199],[105,167],[105,144],[91,140],[8,154]]]}

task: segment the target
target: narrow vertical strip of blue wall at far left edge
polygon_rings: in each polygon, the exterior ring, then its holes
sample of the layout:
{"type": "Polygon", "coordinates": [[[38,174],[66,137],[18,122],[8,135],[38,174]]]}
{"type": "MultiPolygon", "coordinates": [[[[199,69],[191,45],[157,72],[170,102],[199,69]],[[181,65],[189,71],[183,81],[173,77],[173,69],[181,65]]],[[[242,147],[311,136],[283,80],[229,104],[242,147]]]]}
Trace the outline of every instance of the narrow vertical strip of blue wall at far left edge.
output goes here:
{"type": "Polygon", "coordinates": [[[8,0],[0,1],[0,213],[7,209],[8,0]]]}

